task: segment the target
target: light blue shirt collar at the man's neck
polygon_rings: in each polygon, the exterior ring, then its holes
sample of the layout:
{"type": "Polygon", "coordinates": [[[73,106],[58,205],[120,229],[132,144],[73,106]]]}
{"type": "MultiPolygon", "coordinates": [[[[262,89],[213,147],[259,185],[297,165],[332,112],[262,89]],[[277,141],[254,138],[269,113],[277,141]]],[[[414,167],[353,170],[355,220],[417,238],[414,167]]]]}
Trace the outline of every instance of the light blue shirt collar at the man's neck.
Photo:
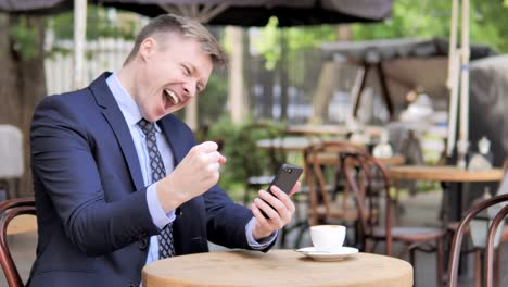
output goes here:
{"type": "MultiPolygon", "coordinates": [[[[107,86],[110,87],[113,97],[115,98],[118,107],[120,108],[122,114],[127,122],[127,125],[132,126],[137,125],[138,122],[142,118],[141,112],[138,104],[129,95],[129,92],[122,86],[122,83],[118,78],[117,73],[111,74],[106,79],[107,86]]],[[[161,132],[157,123],[155,123],[155,130],[161,132]]]]}

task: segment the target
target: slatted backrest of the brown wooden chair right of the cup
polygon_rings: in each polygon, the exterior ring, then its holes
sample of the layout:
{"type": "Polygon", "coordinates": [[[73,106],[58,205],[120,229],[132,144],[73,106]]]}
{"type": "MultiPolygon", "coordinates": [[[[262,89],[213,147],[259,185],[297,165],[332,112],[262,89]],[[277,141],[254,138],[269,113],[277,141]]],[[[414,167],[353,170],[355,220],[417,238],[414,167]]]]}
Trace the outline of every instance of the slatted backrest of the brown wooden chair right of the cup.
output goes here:
{"type": "MultiPolygon", "coordinates": [[[[385,253],[392,255],[392,200],[390,175],[385,166],[367,152],[350,152],[343,157],[343,170],[352,190],[363,233],[374,234],[374,228],[385,229],[385,253]],[[372,216],[384,203],[384,222],[372,216]]],[[[365,236],[364,245],[365,245],[365,236]]]]}

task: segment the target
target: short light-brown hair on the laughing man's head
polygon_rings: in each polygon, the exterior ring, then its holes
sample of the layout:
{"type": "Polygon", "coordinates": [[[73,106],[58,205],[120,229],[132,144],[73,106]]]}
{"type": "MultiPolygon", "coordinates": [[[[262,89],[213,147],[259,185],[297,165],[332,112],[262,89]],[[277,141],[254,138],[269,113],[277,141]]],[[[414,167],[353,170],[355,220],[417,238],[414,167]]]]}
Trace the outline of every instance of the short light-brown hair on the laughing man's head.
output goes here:
{"type": "Polygon", "coordinates": [[[135,46],[125,60],[124,65],[136,58],[141,42],[143,42],[144,39],[165,33],[177,33],[180,36],[198,40],[198,42],[201,43],[201,49],[209,54],[214,64],[219,64],[220,66],[226,65],[226,54],[215,37],[212,36],[203,25],[194,20],[174,14],[160,15],[150,21],[150,23],[139,32],[135,40],[135,46]]]}

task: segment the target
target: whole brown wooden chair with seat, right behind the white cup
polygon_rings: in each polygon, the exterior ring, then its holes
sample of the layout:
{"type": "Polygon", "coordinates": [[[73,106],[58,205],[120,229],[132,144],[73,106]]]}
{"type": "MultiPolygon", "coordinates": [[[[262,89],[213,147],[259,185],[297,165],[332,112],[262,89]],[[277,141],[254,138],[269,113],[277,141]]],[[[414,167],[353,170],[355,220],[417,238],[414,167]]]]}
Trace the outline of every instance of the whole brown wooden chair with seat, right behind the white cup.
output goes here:
{"type": "Polygon", "coordinates": [[[405,245],[403,255],[409,254],[416,272],[416,250],[436,253],[437,285],[443,284],[443,241],[445,230],[420,226],[393,226],[390,176],[384,165],[366,152],[350,152],[343,155],[343,169],[347,185],[355,196],[360,222],[360,239],[367,252],[379,241],[385,241],[386,254],[392,255],[392,241],[405,245]],[[372,199],[384,202],[384,222],[376,221],[372,214],[378,207],[372,199]]]}

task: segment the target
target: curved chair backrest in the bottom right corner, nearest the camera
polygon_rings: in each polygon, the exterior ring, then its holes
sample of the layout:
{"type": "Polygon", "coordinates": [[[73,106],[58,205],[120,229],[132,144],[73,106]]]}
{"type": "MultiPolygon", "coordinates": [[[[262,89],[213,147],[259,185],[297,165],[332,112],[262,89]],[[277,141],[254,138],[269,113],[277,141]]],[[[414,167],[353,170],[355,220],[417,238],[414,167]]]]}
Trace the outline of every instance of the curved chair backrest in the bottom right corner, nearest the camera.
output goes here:
{"type": "MultiPolygon", "coordinates": [[[[498,204],[500,202],[508,201],[508,194],[499,195],[492,197],[490,199],[483,200],[475,205],[473,205],[466,215],[460,221],[457,230],[455,232],[454,239],[452,241],[452,249],[449,253],[449,265],[448,265],[448,286],[456,287],[457,286],[457,271],[459,264],[459,257],[460,257],[460,248],[462,245],[462,239],[465,234],[467,233],[469,223],[471,220],[478,215],[480,212],[484,211],[485,209],[498,204]]],[[[493,254],[494,254],[494,239],[496,235],[497,227],[499,227],[500,222],[505,219],[508,214],[508,207],[504,207],[497,214],[494,216],[491,227],[487,234],[487,242],[486,242],[486,257],[485,257],[485,267],[486,267],[486,276],[485,276],[485,286],[492,287],[493,286],[493,254]]]]}

